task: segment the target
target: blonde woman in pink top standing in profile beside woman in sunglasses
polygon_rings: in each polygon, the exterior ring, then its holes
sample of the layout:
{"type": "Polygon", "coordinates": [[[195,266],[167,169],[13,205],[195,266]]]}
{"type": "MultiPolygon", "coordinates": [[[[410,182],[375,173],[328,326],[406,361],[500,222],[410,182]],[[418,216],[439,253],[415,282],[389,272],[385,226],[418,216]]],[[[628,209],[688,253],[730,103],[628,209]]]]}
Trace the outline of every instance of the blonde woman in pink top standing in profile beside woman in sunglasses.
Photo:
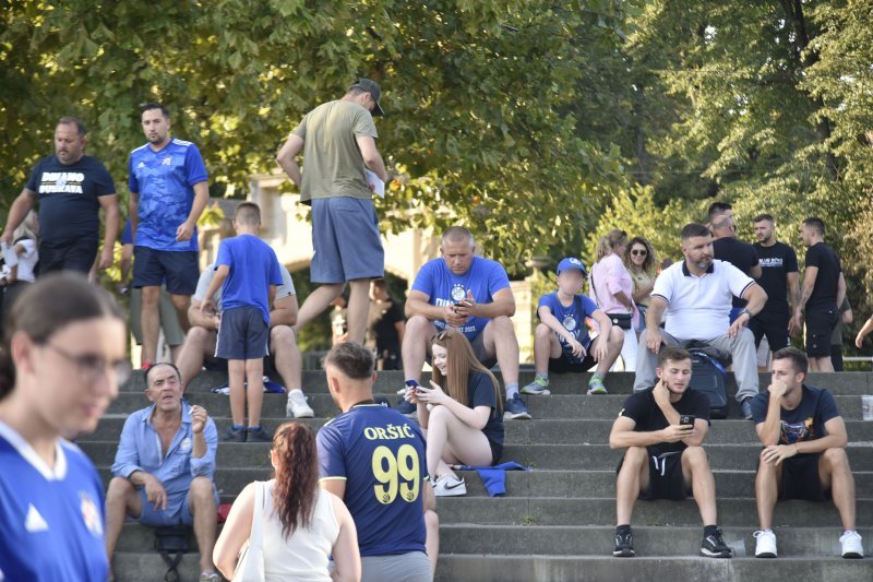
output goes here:
{"type": "MultiPolygon", "coordinates": [[[[636,369],[636,333],[634,328],[638,318],[634,306],[634,281],[624,266],[621,257],[627,246],[624,230],[610,230],[597,242],[597,262],[591,266],[591,298],[609,316],[631,314],[631,329],[624,330],[624,345],[621,359],[625,371],[636,369]]],[[[614,318],[613,324],[617,322],[614,318]]],[[[627,324],[627,323],[625,323],[627,324]]]]}

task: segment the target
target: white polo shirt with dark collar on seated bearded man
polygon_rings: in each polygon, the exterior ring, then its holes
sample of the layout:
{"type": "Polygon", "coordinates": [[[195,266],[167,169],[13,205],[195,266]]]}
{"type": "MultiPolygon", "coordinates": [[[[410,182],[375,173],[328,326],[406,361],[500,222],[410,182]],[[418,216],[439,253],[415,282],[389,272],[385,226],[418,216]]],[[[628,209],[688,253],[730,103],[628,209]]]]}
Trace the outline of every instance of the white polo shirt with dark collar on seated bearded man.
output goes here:
{"type": "Polygon", "coordinates": [[[727,333],[731,299],[754,284],[726,261],[714,260],[702,276],[692,274],[682,261],[658,275],[651,297],[667,301],[667,333],[677,340],[709,341],[727,333]]]}

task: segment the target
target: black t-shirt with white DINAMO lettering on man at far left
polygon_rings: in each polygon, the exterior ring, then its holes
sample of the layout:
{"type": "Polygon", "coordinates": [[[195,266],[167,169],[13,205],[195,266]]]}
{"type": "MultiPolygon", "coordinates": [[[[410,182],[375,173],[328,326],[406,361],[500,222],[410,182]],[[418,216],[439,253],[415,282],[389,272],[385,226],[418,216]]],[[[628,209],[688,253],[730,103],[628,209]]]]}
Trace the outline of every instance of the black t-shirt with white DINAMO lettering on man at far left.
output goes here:
{"type": "Polygon", "coordinates": [[[70,165],[61,164],[53,155],[44,157],[34,166],[25,188],[36,192],[39,200],[39,238],[53,245],[97,238],[97,199],[116,193],[106,167],[91,156],[70,165]]]}

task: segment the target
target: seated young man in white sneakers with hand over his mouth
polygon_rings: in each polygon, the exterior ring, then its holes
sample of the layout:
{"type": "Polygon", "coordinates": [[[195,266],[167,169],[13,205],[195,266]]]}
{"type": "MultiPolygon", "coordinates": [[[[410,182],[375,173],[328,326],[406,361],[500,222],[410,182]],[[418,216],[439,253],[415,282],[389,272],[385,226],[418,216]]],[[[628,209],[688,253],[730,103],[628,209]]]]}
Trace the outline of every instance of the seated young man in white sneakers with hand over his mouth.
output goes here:
{"type": "Polygon", "coordinates": [[[809,360],[796,347],[773,355],[773,381],[752,401],[755,430],[764,446],[755,477],[761,528],[755,557],[775,558],[773,509],[777,499],[824,501],[829,491],[839,511],[844,558],[863,558],[854,530],[854,477],[846,454],[846,424],[834,396],[804,383],[809,360]]]}

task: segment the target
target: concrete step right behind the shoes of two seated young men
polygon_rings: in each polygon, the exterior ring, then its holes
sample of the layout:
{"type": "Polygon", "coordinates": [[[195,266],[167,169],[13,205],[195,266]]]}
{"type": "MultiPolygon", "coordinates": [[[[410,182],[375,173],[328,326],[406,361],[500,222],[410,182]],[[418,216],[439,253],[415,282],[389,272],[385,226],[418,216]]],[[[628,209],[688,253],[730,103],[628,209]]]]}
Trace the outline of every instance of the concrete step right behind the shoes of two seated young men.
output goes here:
{"type": "MultiPolygon", "coordinates": [[[[754,556],[756,527],[722,526],[725,543],[734,548],[738,557],[754,556]]],[[[703,526],[646,526],[633,527],[634,549],[639,557],[697,556],[703,537],[703,526]]],[[[824,527],[775,527],[779,558],[839,557],[839,522],[824,527]]],[[[864,555],[873,551],[873,528],[859,527],[863,537],[864,555]]],[[[540,556],[603,556],[612,557],[615,526],[575,525],[464,525],[440,526],[440,555],[540,555],[540,556]]],[[[623,561],[623,560],[618,560],[623,561]]],[[[704,560],[707,561],[707,560],[704,560]]],[[[767,560],[762,560],[762,563],[767,560]]],[[[859,560],[847,560],[856,561],[859,560]]],[[[864,560],[873,566],[873,560],[864,560]]],[[[863,563],[863,562],[861,562],[863,563]]],[[[719,579],[720,580],[720,579],[719,579]]],[[[786,580],[779,577],[778,580],[786,580]]]]}

